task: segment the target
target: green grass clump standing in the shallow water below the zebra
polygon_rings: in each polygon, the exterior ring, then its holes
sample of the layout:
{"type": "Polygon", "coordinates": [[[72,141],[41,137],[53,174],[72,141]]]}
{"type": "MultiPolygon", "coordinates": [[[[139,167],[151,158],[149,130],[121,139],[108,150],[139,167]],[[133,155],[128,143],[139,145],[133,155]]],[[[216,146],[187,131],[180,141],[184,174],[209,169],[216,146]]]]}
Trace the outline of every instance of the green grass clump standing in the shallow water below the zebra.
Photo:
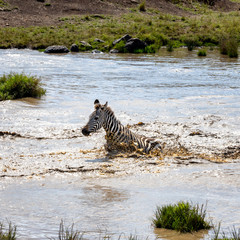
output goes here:
{"type": "Polygon", "coordinates": [[[178,202],[157,207],[153,224],[156,228],[193,232],[211,228],[205,217],[206,208],[203,205],[192,206],[189,202],[178,202]]]}

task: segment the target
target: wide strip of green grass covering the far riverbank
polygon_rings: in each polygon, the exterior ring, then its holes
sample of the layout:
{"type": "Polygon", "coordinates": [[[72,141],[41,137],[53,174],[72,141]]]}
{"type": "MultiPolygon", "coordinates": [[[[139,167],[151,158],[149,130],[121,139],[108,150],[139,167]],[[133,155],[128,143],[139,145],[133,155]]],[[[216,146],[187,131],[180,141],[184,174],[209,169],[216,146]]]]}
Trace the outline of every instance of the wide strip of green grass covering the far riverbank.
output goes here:
{"type": "MultiPolygon", "coordinates": [[[[129,34],[148,44],[140,52],[158,52],[162,46],[171,48],[187,46],[218,46],[229,41],[229,56],[236,56],[240,41],[240,13],[208,11],[203,15],[179,17],[160,13],[157,10],[136,11],[121,16],[87,15],[59,19],[58,26],[2,27],[0,48],[45,49],[50,45],[70,46],[75,43],[81,51],[98,49],[108,52],[114,48],[113,41],[129,34]],[[226,37],[225,37],[226,36],[226,37]],[[94,41],[96,38],[104,42],[94,41]],[[81,41],[91,46],[83,46],[81,41]]],[[[121,52],[126,50],[123,46],[121,52]]],[[[138,51],[137,51],[138,52],[138,51]]]]}

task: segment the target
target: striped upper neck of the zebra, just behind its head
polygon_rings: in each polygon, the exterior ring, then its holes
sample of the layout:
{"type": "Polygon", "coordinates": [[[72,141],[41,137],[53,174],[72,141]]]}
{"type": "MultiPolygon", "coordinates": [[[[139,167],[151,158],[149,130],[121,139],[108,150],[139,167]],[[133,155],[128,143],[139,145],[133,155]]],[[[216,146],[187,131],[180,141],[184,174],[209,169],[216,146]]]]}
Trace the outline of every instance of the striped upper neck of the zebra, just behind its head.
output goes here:
{"type": "Polygon", "coordinates": [[[109,107],[105,111],[105,121],[103,123],[103,128],[107,134],[116,133],[119,130],[124,129],[124,126],[115,117],[114,112],[109,107]]]}

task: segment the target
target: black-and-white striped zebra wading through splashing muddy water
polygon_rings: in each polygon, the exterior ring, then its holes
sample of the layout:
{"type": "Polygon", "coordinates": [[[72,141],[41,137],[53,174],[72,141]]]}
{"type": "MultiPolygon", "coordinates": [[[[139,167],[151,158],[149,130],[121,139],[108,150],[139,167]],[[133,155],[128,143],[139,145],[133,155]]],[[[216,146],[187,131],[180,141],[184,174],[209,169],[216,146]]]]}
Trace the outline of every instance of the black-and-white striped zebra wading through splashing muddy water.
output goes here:
{"type": "MultiPolygon", "coordinates": [[[[135,146],[135,149],[141,149],[146,154],[153,150],[162,152],[161,144],[156,139],[135,134],[128,127],[124,127],[115,117],[112,109],[108,107],[108,102],[101,105],[99,100],[96,99],[94,107],[95,111],[90,114],[88,123],[82,128],[84,136],[89,136],[90,133],[94,133],[103,127],[106,131],[107,147],[108,145],[125,144],[135,146]]],[[[107,150],[110,151],[111,148],[107,150]]]]}

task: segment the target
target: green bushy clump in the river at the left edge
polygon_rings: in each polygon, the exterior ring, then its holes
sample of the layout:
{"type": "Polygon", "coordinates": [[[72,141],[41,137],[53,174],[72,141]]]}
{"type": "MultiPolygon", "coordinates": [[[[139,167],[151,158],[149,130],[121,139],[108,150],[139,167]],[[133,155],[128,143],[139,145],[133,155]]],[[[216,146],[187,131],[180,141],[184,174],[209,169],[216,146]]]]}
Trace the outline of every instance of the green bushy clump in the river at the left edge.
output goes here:
{"type": "Polygon", "coordinates": [[[46,91],[40,79],[25,74],[10,73],[0,77],[0,101],[24,97],[41,97],[46,91]]]}

